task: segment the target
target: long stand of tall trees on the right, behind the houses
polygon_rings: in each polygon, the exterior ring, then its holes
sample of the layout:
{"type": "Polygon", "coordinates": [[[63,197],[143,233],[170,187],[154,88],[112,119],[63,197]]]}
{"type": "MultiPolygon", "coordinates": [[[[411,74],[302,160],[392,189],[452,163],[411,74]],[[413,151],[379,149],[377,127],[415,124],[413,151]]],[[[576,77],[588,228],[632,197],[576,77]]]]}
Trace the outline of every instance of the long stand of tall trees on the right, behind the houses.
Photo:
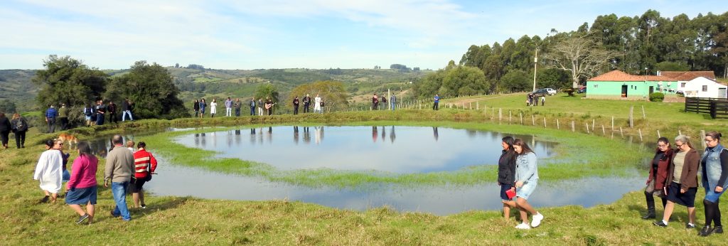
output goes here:
{"type": "Polygon", "coordinates": [[[566,89],[606,71],[629,74],[657,71],[714,71],[728,76],[728,12],[662,17],[647,10],[641,16],[600,15],[576,31],[551,29],[545,38],[521,36],[502,44],[471,45],[459,64],[454,61],[415,84],[416,95],[441,96],[518,92],[532,89],[538,50],[538,87],[566,89]],[[463,67],[463,68],[460,68],[463,67]],[[477,68],[483,76],[475,74],[477,68]],[[468,78],[447,82],[447,78],[468,78]]]}

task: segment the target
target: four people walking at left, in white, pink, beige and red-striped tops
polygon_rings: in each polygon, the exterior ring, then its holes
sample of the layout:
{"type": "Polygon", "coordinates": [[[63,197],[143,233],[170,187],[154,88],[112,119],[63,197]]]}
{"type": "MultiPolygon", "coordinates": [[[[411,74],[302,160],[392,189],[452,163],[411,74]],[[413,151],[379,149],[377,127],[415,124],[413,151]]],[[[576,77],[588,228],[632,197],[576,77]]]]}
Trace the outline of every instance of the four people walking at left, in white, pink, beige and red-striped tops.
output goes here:
{"type": "MultiPolygon", "coordinates": [[[[151,175],[157,169],[157,159],[146,151],[146,143],[140,142],[135,151],[133,147],[124,148],[121,135],[111,138],[114,148],[106,156],[104,167],[103,186],[111,185],[111,193],[116,206],[111,210],[112,217],[119,217],[123,221],[130,221],[126,195],[127,189],[132,193],[135,207],[146,208],[144,203],[143,185],[151,180],[151,175]]],[[[133,146],[130,141],[127,146],[133,146]]],[[[45,197],[42,202],[56,202],[62,189],[62,182],[66,183],[66,204],[71,207],[79,218],[76,223],[91,223],[95,216],[95,205],[98,194],[96,171],[98,159],[92,154],[89,143],[80,142],[77,146],[79,154],[71,166],[71,172],[64,171],[64,162],[68,161],[68,154],[63,154],[63,140],[47,140],[46,151],[41,154],[33,179],[39,180],[40,188],[45,197]],[[67,178],[64,178],[66,172],[67,178]],[[82,205],[85,205],[82,207],[82,205]]]]}

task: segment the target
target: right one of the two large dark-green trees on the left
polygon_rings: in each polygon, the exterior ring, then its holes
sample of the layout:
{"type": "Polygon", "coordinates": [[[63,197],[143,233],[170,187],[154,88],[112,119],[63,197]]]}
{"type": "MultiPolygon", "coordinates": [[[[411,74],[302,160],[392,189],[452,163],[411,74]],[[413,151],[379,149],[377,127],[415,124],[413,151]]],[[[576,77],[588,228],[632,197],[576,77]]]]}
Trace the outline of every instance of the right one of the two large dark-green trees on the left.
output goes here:
{"type": "Polygon", "coordinates": [[[141,60],[131,66],[128,74],[114,79],[104,95],[119,107],[122,100],[129,98],[135,119],[171,119],[189,116],[178,93],[167,68],[141,60]]]}

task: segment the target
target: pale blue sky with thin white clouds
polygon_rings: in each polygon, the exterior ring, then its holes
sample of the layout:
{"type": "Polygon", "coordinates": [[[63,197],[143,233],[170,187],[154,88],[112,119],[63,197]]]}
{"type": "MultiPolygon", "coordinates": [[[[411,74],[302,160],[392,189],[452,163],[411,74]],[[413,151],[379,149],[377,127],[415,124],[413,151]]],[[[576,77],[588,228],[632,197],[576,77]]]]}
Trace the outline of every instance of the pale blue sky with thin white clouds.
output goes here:
{"type": "Polygon", "coordinates": [[[97,68],[438,69],[471,44],[571,31],[598,15],[720,14],[725,1],[1,1],[0,69],[50,54],[97,68]]]}

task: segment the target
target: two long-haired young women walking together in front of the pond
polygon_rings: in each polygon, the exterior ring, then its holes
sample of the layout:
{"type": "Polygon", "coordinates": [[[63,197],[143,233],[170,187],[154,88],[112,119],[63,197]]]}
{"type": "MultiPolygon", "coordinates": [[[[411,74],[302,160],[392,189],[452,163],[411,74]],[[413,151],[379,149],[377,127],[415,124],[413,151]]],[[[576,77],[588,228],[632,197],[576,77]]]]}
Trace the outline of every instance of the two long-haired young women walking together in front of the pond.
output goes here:
{"type": "Polygon", "coordinates": [[[498,159],[498,180],[503,203],[503,216],[510,218],[510,209],[518,209],[521,223],[516,229],[531,229],[541,225],[544,215],[529,204],[529,197],[538,185],[537,157],[529,145],[518,138],[502,138],[502,154],[498,159]],[[529,223],[529,214],[531,223],[529,223]]]}

